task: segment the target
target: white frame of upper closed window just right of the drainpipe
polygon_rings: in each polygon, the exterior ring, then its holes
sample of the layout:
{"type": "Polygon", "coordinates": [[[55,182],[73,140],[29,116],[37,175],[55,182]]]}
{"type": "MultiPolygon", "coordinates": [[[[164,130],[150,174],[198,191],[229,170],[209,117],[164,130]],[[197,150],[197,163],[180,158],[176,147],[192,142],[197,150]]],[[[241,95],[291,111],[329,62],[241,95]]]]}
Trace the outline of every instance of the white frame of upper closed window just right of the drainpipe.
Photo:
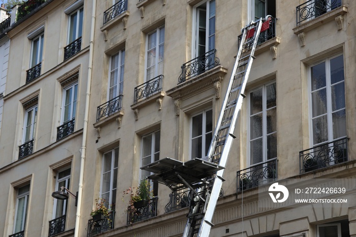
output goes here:
{"type": "MultiPolygon", "coordinates": [[[[124,92],[124,70],[125,67],[125,49],[121,49],[117,53],[113,54],[110,57],[110,70],[109,70],[109,77],[108,77],[108,89],[107,89],[107,101],[112,100],[120,95],[123,94],[124,92]],[[117,60],[117,65],[113,65],[112,59],[113,57],[118,57],[117,60]],[[116,78],[116,84],[111,85],[111,75],[115,73],[115,70],[117,70],[117,78],[116,78]],[[110,89],[116,87],[116,94],[110,98],[110,89]]],[[[114,76],[114,75],[113,75],[114,76]]]]}

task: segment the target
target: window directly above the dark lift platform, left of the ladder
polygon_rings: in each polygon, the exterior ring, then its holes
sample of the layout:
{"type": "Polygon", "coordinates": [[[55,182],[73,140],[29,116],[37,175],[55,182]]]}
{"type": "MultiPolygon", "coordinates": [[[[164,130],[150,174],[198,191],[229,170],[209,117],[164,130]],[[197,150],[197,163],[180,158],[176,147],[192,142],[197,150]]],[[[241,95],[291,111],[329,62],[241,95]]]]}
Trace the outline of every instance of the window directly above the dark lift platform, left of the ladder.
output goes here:
{"type": "Polygon", "coordinates": [[[213,136],[213,110],[207,109],[191,117],[190,123],[190,158],[207,160],[213,136]]]}

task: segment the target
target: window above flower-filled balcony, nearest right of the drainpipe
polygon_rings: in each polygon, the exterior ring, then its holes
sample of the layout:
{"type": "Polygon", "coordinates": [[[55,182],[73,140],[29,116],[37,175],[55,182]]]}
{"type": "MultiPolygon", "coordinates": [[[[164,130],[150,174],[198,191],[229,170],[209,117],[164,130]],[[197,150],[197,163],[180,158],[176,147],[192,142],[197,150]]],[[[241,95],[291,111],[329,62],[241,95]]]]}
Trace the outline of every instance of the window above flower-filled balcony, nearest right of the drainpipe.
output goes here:
{"type": "Polygon", "coordinates": [[[117,184],[117,165],[118,165],[118,147],[112,149],[103,155],[103,167],[101,176],[101,198],[106,200],[105,205],[112,210],[116,203],[116,184],[117,184]]]}

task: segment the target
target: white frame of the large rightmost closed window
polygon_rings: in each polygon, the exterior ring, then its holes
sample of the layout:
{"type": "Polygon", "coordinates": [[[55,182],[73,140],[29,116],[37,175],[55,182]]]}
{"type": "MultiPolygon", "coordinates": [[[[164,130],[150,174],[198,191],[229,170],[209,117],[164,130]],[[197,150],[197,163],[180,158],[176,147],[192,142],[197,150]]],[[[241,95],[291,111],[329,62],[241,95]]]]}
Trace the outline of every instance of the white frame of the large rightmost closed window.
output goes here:
{"type": "MultiPolygon", "coordinates": [[[[345,136],[341,136],[341,137],[337,137],[337,138],[333,138],[333,113],[335,112],[338,112],[338,111],[341,111],[341,110],[345,110],[345,116],[346,116],[346,98],[344,98],[344,102],[345,102],[345,105],[343,108],[340,108],[340,109],[337,109],[335,111],[332,111],[332,92],[331,92],[331,75],[330,75],[330,61],[333,60],[334,58],[336,57],[339,57],[342,55],[342,58],[343,58],[343,67],[344,67],[344,80],[343,81],[339,81],[339,82],[336,82],[334,83],[333,85],[335,84],[339,84],[339,83],[344,83],[344,86],[345,86],[345,58],[344,58],[344,54],[341,53],[341,54],[337,54],[337,55],[334,55],[334,56],[331,56],[331,57],[328,57],[328,58],[325,58],[324,60],[322,61],[319,61],[313,65],[310,65],[308,67],[308,90],[309,90],[309,93],[308,93],[308,99],[309,99],[309,136],[310,136],[310,147],[313,147],[313,146],[318,146],[318,145],[321,145],[321,144],[324,144],[324,143],[328,143],[328,142],[332,142],[334,140],[338,140],[338,139],[341,139],[341,138],[345,138],[347,137],[347,131],[345,131],[345,136]],[[326,85],[325,85],[325,88],[326,88],[326,93],[327,93],[327,120],[328,120],[328,140],[326,141],[323,141],[323,142],[320,142],[320,143],[316,143],[314,144],[314,137],[313,137],[313,106],[312,106],[312,87],[311,87],[311,68],[316,66],[316,65],[319,65],[321,63],[325,62],[325,77],[326,77],[326,85]]],[[[318,91],[318,90],[321,90],[320,88],[315,90],[315,91],[318,91]]],[[[345,90],[346,92],[346,90],[345,90]]],[[[322,115],[318,115],[318,116],[322,116],[322,115]]],[[[315,116],[315,117],[318,117],[318,116],[315,116]]],[[[345,118],[347,120],[347,118],[345,118]]],[[[347,126],[347,123],[346,123],[346,126],[347,126]]],[[[347,130],[347,127],[346,127],[346,130],[347,130]]]]}

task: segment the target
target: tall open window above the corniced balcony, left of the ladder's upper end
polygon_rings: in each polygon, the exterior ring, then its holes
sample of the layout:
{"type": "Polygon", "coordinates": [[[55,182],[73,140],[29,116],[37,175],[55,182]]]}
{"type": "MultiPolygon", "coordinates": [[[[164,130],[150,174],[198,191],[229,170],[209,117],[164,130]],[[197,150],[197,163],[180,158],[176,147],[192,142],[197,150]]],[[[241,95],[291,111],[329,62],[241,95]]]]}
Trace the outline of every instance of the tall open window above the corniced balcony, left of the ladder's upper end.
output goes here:
{"type": "Polygon", "coordinates": [[[193,7],[193,58],[215,49],[215,0],[193,7]]]}

